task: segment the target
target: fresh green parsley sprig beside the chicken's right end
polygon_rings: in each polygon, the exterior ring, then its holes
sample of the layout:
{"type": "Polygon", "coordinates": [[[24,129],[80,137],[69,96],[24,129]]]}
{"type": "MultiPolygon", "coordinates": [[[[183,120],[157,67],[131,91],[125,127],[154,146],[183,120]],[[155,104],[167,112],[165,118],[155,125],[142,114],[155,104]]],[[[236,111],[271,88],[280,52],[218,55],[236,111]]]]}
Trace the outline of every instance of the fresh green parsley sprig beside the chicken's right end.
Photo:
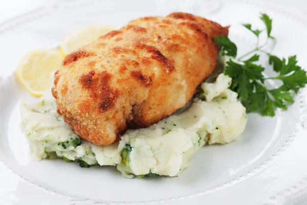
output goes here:
{"type": "Polygon", "coordinates": [[[215,40],[221,47],[221,54],[230,56],[224,73],[232,78],[230,89],[238,93],[247,112],[274,116],[276,108],[287,110],[287,106],[294,103],[293,93],[297,93],[299,88],[307,84],[307,75],[306,71],[297,65],[296,56],[290,56],[288,60],[280,59],[264,50],[269,41],[275,38],[271,35],[272,19],[265,13],[261,13],[260,19],[266,29],[253,29],[251,24],[243,24],[257,37],[256,48],[243,56],[236,58],[237,47],[227,36],[215,36],[215,40]],[[262,32],[266,32],[267,39],[263,45],[259,45],[259,36],[262,32]],[[268,56],[269,65],[273,66],[276,76],[264,76],[265,68],[256,64],[259,61],[259,53],[268,56]],[[280,80],[282,85],[276,89],[269,89],[266,86],[267,80],[280,80]]]}

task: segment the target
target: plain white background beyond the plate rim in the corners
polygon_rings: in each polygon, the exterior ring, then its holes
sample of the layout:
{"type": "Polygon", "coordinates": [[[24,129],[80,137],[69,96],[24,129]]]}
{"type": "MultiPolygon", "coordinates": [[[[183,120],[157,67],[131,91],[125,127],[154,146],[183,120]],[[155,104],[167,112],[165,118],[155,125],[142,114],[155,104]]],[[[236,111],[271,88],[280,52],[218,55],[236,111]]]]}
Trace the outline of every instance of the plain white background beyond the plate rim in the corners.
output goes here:
{"type": "MultiPolygon", "coordinates": [[[[57,1],[59,0],[0,0],[0,24],[16,15],[33,10],[43,4],[52,4],[57,1]]],[[[266,0],[266,1],[273,2],[276,4],[287,5],[289,9],[298,9],[304,13],[307,13],[307,0],[266,0]]],[[[298,203],[296,203],[296,205],[305,205],[305,204],[307,204],[307,199],[301,200],[298,203]]]]}

